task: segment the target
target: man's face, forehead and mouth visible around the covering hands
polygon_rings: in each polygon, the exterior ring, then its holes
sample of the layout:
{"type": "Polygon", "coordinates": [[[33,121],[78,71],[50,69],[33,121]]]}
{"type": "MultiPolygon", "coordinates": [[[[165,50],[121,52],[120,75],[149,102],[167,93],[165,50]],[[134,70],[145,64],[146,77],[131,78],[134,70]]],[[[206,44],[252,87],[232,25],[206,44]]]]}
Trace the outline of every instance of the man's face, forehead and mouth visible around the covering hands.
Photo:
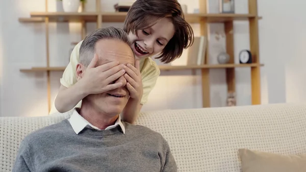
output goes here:
{"type": "MultiPolygon", "coordinates": [[[[98,55],[99,60],[97,66],[118,61],[119,64],[127,65],[128,63],[134,65],[135,58],[131,47],[115,39],[102,39],[95,44],[95,53],[98,55]]],[[[86,72],[87,68],[84,72],[86,72]]],[[[127,101],[129,100],[130,93],[126,89],[126,79],[121,76],[116,82],[122,82],[122,86],[108,92],[100,94],[90,94],[83,101],[88,103],[94,110],[100,113],[105,113],[110,116],[118,115],[122,112],[127,101]]]]}

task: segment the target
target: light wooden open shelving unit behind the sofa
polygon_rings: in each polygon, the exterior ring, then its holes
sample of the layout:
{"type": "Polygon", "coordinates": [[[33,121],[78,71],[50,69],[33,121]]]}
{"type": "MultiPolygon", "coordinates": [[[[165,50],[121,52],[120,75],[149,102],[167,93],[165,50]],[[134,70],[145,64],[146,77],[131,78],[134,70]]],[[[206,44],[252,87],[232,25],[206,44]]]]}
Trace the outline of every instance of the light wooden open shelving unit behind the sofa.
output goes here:
{"type": "MultiPolygon", "coordinates": [[[[251,69],[251,90],[252,90],[252,104],[257,105],[261,103],[261,90],[260,90],[260,64],[259,59],[259,39],[258,39],[258,16],[257,0],[248,0],[249,14],[210,14],[207,13],[207,1],[199,0],[199,13],[198,14],[185,14],[185,18],[190,23],[200,24],[200,35],[208,36],[208,24],[221,22],[224,23],[226,34],[226,52],[231,56],[229,64],[210,65],[209,58],[206,58],[203,65],[186,65],[186,66],[169,66],[161,65],[160,70],[190,70],[200,69],[202,76],[202,102],[203,107],[210,107],[210,79],[209,72],[212,68],[226,69],[226,82],[227,90],[236,91],[235,85],[235,68],[249,67],[251,69]],[[233,35],[233,21],[245,20],[249,22],[250,34],[250,51],[252,53],[252,64],[234,64],[234,35],[233,35]]],[[[103,12],[100,10],[100,1],[96,0],[96,12],[48,12],[47,0],[45,0],[44,12],[31,12],[29,18],[19,18],[20,22],[44,22],[46,27],[46,58],[47,64],[45,67],[32,67],[28,69],[20,69],[21,72],[47,72],[47,91],[48,91],[48,107],[50,110],[50,72],[64,71],[63,67],[50,67],[49,66],[49,22],[81,22],[82,39],[85,38],[86,22],[96,22],[97,28],[101,28],[104,22],[123,22],[126,12],[103,12]]],[[[209,50],[207,51],[207,57],[209,50]]]]}

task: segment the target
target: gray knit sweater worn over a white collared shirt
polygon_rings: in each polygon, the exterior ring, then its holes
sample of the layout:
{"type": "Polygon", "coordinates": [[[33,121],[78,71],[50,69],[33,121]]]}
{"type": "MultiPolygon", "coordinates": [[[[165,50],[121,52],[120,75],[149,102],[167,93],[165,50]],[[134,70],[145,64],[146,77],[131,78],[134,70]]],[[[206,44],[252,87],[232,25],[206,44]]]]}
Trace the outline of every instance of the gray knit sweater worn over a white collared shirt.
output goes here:
{"type": "Polygon", "coordinates": [[[14,171],[177,171],[167,141],[143,126],[85,128],[78,135],[68,120],[25,137],[14,171]]]}

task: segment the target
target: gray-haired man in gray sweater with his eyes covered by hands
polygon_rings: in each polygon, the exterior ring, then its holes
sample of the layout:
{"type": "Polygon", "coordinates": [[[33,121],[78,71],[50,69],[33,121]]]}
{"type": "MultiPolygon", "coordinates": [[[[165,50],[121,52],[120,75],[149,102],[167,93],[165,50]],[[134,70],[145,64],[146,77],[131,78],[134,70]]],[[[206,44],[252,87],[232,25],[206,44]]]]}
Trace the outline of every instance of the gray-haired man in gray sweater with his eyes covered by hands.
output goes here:
{"type": "MultiPolygon", "coordinates": [[[[134,64],[127,35],[118,28],[98,29],[85,38],[78,80],[90,75],[92,55],[99,57],[98,66],[134,64]]],[[[86,96],[69,119],[25,137],[13,171],[176,171],[161,134],[121,121],[129,91],[123,76],[119,81],[122,86],[115,90],[86,96]]]]}

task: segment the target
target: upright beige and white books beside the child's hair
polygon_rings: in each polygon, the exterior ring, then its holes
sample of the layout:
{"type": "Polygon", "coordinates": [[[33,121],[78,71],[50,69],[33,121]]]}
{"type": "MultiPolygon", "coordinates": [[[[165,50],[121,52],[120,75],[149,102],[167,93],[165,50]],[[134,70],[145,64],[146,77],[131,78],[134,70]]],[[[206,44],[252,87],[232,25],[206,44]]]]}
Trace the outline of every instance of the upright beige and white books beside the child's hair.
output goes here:
{"type": "Polygon", "coordinates": [[[188,47],[187,65],[202,65],[205,62],[207,38],[205,36],[194,37],[193,44],[188,47]]]}

